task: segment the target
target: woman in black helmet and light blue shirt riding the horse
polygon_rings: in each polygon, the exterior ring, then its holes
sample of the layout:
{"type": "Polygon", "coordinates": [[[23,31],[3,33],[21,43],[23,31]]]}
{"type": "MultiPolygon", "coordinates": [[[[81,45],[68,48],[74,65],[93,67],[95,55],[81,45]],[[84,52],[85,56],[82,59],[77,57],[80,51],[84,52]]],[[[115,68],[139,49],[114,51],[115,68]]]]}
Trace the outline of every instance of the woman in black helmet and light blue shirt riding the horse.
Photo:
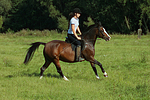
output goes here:
{"type": "Polygon", "coordinates": [[[76,57],[76,61],[83,61],[84,58],[81,58],[81,37],[79,37],[76,33],[76,31],[78,31],[78,33],[80,35],[82,35],[80,28],[79,28],[79,17],[81,15],[81,10],[79,8],[75,8],[73,10],[73,13],[70,14],[70,16],[72,17],[70,20],[70,24],[69,24],[69,29],[68,29],[68,38],[71,41],[71,43],[75,44],[77,46],[77,55],[79,56],[79,58],[76,57]],[[80,53],[78,52],[80,51],[80,53]]]}

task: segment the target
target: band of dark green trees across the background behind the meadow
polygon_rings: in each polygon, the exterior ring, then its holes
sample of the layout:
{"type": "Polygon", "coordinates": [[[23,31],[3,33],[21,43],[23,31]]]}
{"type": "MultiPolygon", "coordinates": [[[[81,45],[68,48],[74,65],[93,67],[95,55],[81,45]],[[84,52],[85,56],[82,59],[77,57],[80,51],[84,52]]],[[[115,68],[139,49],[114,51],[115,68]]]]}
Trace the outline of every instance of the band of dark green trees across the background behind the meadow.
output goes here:
{"type": "Polygon", "coordinates": [[[82,11],[80,28],[101,22],[110,33],[150,29],[150,0],[0,0],[0,32],[68,29],[69,13],[82,11]]]}

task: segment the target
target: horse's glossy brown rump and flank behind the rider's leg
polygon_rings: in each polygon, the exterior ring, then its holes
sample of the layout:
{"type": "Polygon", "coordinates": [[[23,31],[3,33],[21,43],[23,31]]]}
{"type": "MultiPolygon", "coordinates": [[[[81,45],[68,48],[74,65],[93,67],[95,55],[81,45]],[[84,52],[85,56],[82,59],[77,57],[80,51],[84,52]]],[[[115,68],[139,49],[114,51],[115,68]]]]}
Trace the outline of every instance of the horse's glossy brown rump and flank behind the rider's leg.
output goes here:
{"type": "Polygon", "coordinates": [[[71,44],[61,40],[53,40],[46,43],[44,54],[49,59],[59,59],[66,62],[73,62],[75,52],[71,48],[71,44]]]}

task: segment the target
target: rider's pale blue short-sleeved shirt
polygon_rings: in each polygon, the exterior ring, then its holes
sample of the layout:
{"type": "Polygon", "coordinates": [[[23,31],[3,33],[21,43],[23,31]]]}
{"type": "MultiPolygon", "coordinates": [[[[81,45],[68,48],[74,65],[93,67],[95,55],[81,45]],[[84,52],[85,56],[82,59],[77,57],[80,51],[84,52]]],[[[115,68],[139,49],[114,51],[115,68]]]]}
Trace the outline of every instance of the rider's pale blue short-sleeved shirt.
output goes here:
{"type": "Polygon", "coordinates": [[[73,34],[73,31],[72,31],[72,28],[71,28],[71,25],[74,24],[75,25],[75,32],[79,26],[79,19],[77,18],[74,18],[72,17],[71,20],[70,20],[70,25],[69,25],[69,29],[68,29],[68,34],[73,34]]]}

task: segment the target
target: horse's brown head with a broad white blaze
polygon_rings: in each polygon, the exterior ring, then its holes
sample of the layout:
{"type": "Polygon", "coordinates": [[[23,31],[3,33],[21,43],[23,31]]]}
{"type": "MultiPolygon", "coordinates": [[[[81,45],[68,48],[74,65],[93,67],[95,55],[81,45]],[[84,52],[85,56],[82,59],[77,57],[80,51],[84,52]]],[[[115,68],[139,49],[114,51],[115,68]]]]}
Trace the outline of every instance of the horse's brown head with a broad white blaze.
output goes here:
{"type": "Polygon", "coordinates": [[[101,23],[98,23],[97,36],[99,38],[105,39],[106,41],[109,41],[111,39],[111,37],[106,32],[105,28],[101,25],[101,23]]]}

